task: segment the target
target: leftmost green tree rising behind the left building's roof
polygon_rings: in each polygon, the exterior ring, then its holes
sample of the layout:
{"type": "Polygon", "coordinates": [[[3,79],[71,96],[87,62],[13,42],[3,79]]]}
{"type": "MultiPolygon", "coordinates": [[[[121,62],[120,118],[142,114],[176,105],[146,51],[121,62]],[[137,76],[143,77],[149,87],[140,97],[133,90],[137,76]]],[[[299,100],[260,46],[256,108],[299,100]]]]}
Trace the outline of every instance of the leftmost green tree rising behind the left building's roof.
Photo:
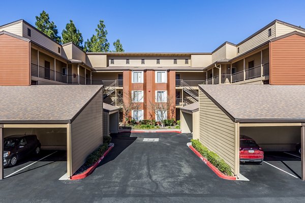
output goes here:
{"type": "Polygon", "coordinates": [[[45,33],[52,40],[60,43],[60,37],[58,36],[57,26],[53,21],[50,22],[48,13],[42,11],[39,16],[36,16],[35,25],[37,29],[45,33]]]}

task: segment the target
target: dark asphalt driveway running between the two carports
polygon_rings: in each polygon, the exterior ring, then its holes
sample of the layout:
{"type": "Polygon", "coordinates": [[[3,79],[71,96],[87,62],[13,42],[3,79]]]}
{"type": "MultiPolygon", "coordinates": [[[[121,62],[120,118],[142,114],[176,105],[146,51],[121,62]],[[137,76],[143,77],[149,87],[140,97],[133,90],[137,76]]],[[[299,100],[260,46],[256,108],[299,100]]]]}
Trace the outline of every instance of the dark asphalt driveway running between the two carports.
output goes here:
{"type": "Polygon", "coordinates": [[[272,172],[276,178],[270,173],[251,177],[251,181],[220,179],[187,147],[189,137],[177,133],[114,135],[115,147],[86,179],[59,181],[60,177],[41,178],[35,170],[29,171],[26,178],[18,175],[0,182],[0,202],[304,201],[305,182],[278,174],[279,170],[272,172]],[[144,138],[159,141],[143,142],[144,138]]]}

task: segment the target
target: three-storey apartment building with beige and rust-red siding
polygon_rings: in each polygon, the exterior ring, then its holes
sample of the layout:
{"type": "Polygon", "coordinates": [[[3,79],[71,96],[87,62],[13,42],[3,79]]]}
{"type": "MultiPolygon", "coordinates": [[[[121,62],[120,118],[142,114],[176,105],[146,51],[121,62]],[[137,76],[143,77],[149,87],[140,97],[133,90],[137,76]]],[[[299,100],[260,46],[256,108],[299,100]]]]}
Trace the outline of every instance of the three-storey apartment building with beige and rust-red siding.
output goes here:
{"type": "Polygon", "coordinates": [[[179,119],[180,107],[199,100],[199,84],[305,84],[304,33],[275,20],[207,53],[85,53],[18,20],[0,26],[0,85],[104,84],[108,104],[138,104],[136,120],[179,119]]]}

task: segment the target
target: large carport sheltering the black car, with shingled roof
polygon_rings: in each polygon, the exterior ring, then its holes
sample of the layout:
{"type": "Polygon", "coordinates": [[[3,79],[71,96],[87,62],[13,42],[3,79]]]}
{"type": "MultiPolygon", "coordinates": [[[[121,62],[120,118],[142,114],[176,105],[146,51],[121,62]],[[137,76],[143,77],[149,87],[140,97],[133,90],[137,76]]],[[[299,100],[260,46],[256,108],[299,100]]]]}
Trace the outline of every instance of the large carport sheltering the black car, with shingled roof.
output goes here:
{"type": "Polygon", "coordinates": [[[38,132],[42,147],[66,145],[67,178],[103,143],[101,85],[1,86],[0,95],[6,95],[0,107],[0,179],[4,137],[24,129],[25,134],[38,132]]]}

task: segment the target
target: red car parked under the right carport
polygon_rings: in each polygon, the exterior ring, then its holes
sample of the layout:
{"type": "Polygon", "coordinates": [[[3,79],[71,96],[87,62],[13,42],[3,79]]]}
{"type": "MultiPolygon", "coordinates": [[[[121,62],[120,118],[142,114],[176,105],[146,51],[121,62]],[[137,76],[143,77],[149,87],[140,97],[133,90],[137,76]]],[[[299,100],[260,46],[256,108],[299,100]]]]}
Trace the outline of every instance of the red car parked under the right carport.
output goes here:
{"type": "Polygon", "coordinates": [[[256,142],[247,136],[240,136],[239,139],[239,161],[242,162],[258,162],[262,164],[264,160],[264,152],[256,142]]]}

